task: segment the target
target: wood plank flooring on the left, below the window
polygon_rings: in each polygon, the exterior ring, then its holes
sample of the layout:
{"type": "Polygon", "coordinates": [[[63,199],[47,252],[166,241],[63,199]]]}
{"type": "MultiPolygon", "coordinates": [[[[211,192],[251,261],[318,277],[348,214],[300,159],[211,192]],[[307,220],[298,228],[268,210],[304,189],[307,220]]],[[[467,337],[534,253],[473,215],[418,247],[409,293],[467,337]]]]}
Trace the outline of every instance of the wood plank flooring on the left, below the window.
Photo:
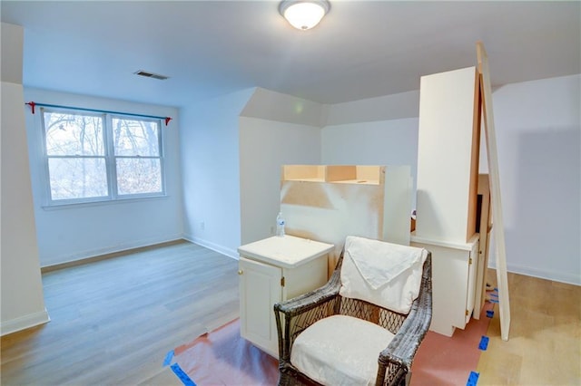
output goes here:
{"type": "Polygon", "coordinates": [[[2,337],[0,383],[180,385],[165,354],[238,317],[237,271],[183,242],[45,273],[52,321],[2,337]]]}

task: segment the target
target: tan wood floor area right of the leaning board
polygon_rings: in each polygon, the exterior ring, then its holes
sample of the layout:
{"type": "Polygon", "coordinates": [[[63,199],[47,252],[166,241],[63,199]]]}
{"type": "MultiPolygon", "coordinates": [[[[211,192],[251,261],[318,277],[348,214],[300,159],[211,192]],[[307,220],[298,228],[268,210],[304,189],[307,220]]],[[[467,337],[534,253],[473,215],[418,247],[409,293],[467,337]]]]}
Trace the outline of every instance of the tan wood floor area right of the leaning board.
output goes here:
{"type": "MultiPolygon", "coordinates": [[[[496,283],[496,272],[488,278],[496,283]]],[[[496,305],[478,386],[581,385],[581,286],[509,273],[508,294],[508,341],[500,338],[496,305]]]]}

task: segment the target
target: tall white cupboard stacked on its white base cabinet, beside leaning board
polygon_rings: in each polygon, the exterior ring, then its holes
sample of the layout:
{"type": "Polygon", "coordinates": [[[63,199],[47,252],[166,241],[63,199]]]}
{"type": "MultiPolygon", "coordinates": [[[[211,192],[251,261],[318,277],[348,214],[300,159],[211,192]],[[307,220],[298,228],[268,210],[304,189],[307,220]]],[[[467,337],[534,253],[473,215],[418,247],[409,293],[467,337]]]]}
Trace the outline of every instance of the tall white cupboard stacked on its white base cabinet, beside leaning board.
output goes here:
{"type": "Polygon", "coordinates": [[[476,67],[421,78],[413,246],[432,252],[430,329],[451,336],[475,307],[480,100],[476,67]]]}

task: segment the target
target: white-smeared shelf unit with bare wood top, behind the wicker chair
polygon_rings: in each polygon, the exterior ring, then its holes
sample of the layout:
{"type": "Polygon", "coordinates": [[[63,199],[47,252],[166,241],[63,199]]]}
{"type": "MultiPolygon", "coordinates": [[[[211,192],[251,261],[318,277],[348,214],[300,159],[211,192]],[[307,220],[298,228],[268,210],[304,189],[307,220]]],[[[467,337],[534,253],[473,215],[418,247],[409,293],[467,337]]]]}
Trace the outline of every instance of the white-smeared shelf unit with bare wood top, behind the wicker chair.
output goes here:
{"type": "Polygon", "coordinates": [[[333,244],[330,274],[350,235],[409,245],[410,167],[284,165],[287,235],[333,244]]]}

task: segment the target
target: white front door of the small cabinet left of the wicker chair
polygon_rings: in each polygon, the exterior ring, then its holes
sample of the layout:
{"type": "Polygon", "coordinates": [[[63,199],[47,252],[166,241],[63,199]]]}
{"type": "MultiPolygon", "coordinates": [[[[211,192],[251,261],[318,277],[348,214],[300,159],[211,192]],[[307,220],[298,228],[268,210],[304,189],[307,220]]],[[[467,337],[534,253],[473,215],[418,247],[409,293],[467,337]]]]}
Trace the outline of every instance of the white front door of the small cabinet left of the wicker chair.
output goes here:
{"type": "Polygon", "coordinates": [[[278,357],[273,306],[281,301],[281,268],[240,258],[241,336],[278,357]]]}

